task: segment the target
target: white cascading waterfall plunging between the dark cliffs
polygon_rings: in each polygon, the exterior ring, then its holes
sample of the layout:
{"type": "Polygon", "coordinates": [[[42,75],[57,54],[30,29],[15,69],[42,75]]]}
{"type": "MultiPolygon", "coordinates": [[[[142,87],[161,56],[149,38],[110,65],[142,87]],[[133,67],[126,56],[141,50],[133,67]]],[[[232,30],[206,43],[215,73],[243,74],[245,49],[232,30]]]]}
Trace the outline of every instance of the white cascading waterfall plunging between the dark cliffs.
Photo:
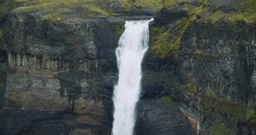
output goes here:
{"type": "MultiPolygon", "coordinates": [[[[153,19],[152,19],[153,20],[153,19]]],[[[112,135],[132,135],[140,97],[141,62],[148,49],[150,21],[126,21],[116,49],[119,81],[115,86],[112,135]]]]}

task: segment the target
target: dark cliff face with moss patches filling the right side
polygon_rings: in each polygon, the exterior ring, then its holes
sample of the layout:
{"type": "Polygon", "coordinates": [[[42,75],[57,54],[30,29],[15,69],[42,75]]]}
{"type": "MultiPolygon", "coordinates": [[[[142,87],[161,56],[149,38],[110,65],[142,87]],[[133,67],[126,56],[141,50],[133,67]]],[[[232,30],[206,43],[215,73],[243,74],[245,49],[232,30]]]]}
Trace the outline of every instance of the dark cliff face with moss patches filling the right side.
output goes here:
{"type": "Polygon", "coordinates": [[[151,25],[151,62],[175,67],[179,79],[169,97],[198,134],[255,134],[252,6],[252,0],[176,4],[158,12],[151,25]]]}

